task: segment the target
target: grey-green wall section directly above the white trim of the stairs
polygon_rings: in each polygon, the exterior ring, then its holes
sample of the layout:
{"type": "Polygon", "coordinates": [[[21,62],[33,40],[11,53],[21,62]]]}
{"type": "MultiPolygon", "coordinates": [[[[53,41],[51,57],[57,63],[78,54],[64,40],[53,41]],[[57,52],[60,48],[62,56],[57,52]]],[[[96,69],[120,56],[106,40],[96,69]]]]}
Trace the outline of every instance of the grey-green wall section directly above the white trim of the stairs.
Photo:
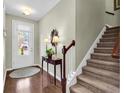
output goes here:
{"type": "Polygon", "coordinates": [[[104,26],[104,0],[76,0],[76,67],[104,26]]]}

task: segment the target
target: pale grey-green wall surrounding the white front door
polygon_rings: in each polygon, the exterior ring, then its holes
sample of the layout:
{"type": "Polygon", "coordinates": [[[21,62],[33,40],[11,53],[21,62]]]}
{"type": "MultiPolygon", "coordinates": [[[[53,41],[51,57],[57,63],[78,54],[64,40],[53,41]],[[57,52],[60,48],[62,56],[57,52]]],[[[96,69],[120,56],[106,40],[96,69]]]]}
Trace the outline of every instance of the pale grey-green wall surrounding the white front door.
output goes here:
{"type": "Polygon", "coordinates": [[[24,22],[29,22],[34,24],[34,63],[40,64],[40,56],[39,56],[39,25],[37,21],[25,19],[22,17],[17,17],[13,15],[6,14],[6,42],[5,42],[5,49],[6,49],[6,69],[12,68],[12,20],[20,20],[24,22]]]}

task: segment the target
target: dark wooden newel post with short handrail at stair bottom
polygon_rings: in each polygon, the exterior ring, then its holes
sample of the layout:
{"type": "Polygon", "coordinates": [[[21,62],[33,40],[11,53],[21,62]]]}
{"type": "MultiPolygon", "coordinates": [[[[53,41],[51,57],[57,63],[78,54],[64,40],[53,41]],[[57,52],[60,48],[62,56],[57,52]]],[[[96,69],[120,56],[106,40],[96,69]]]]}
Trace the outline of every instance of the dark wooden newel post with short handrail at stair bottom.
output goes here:
{"type": "Polygon", "coordinates": [[[68,47],[63,46],[63,49],[62,49],[62,53],[63,53],[63,75],[62,75],[62,81],[61,81],[62,93],[66,93],[66,83],[67,83],[67,80],[66,80],[66,53],[72,46],[75,46],[75,40],[72,40],[71,44],[68,47]]]}

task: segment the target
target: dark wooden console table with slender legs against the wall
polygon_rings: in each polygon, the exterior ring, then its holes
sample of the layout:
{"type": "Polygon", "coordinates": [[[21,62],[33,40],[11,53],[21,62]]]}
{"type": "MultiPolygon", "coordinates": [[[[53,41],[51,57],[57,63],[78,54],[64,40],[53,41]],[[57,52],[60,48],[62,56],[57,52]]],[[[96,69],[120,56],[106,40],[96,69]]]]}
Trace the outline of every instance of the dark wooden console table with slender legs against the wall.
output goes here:
{"type": "Polygon", "coordinates": [[[43,72],[43,62],[47,63],[47,72],[49,70],[49,64],[54,65],[54,84],[56,85],[56,65],[60,65],[60,74],[61,74],[61,81],[62,81],[62,59],[60,58],[53,58],[49,59],[48,57],[42,56],[42,72],[43,72]]]}

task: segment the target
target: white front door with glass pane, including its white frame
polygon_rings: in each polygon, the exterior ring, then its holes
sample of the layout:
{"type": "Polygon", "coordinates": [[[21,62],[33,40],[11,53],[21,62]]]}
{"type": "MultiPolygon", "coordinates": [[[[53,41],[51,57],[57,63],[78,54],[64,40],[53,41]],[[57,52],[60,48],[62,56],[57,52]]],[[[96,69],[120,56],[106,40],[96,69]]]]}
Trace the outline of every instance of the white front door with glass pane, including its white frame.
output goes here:
{"type": "Polygon", "coordinates": [[[12,20],[12,68],[34,64],[34,24],[12,20]]]}

